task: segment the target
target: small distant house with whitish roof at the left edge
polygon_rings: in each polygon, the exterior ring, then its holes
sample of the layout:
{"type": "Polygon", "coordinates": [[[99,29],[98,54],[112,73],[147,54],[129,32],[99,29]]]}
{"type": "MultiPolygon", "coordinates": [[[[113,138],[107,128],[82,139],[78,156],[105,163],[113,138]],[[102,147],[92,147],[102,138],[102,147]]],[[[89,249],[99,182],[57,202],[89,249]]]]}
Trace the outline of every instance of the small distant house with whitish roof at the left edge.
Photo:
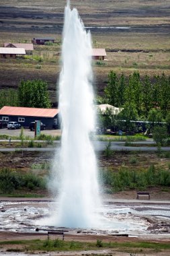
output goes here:
{"type": "Polygon", "coordinates": [[[24,48],[6,48],[0,47],[1,59],[16,59],[17,56],[26,55],[24,48]]]}

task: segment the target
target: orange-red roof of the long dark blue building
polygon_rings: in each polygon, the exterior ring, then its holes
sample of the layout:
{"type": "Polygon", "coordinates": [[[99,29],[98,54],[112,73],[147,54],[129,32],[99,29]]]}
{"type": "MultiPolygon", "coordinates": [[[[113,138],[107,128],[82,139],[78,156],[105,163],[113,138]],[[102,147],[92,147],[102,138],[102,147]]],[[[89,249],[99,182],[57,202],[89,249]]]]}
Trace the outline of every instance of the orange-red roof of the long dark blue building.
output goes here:
{"type": "Polygon", "coordinates": [[[59,113],[55,108],[24,108],[21,106],[3,106],[0,115],[21,116],[21,117],[54,117],[59,113]]]}

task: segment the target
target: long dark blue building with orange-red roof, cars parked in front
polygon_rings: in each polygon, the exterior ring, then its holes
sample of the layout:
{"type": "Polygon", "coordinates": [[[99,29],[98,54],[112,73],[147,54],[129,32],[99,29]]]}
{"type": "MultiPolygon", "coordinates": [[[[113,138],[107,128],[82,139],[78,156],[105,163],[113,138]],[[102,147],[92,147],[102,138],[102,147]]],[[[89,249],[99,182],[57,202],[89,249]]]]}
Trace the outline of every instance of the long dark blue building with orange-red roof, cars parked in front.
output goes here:
{"type": "Polygon", "coordinates": [[[56,108],[25,108],[21,106],[3,106],[0,110],[0,119],[14,121],[23,127],[29,127],[31,122],[42,121],[47,129],[58,129],[59,110],[56,108]]]}

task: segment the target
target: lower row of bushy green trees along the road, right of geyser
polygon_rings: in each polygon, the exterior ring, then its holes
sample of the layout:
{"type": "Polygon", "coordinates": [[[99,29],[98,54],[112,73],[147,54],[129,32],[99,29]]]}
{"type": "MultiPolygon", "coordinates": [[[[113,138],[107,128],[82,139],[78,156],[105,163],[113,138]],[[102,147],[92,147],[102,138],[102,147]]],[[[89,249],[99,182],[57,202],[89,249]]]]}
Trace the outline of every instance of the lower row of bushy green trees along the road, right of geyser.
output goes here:
{"type": "Polygon", "coordinates": [[[161,115],[161,111],[155,108],[152,108],[148,112],[148,117],[145,121],[147,122],[136,122],[140,120],[136,108],[132,104],[125,106],[122,112],[118,115],[112,113],[111,108],[106,108],[105,113],[98,111],[98,126],[101,130],[112,129],[112,131],[129,131],[129,132],[153,132],[155,127],[165,127],[167,133],[170,134],[170,112],[167,113],[165,119],[161,115]]]}

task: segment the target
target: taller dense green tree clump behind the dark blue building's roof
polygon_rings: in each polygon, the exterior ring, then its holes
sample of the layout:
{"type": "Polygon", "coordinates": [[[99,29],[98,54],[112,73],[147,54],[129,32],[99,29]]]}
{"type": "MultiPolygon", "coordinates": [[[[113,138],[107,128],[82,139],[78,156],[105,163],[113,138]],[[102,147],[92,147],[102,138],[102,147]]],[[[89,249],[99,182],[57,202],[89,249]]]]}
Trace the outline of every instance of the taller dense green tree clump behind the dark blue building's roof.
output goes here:
{"type": "Polygon", "coordinates": [[[18,102],[19,106],[50,108],[47,83],[41,79],[22,81],[18,88],[18,102]]]}

